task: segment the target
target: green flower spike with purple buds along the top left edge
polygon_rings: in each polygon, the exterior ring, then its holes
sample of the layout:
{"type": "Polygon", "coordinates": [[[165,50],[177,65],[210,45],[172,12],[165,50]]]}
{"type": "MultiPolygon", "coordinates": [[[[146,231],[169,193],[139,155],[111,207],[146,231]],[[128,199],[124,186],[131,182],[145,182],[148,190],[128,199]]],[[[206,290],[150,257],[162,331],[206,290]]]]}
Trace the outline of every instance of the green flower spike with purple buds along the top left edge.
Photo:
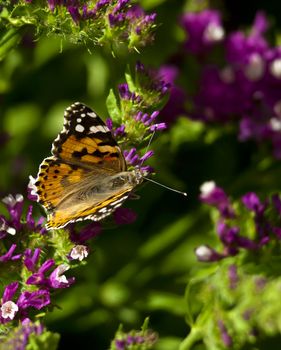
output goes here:
{"type": "Polygon", "coordinates": [[[113,50],[124,43],[129,49],[145,46],[153,40],[156,27],[156,14],[146,14],[130,0],[47,0],[45,8],[40,2],[25,0],[15,2],[10,10],[13,25],[32,23],[38,32],[112,45],[113,50]]]}

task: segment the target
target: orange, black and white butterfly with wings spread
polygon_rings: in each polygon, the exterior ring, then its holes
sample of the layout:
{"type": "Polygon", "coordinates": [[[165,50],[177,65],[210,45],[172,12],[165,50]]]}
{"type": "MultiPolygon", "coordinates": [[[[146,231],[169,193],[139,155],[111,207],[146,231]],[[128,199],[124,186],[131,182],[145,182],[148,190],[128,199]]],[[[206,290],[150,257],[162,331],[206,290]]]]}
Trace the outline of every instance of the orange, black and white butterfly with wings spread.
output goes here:
{"type": "Polygon", "coordinates": [[[120,147],[98,115],[83,103],[73,103],[64,112],[52,156],[43,160],[35,180],[37,201],[47,211],[46,228],[105,218],[143,176],[140,168],[127,170],[120,147]]]}

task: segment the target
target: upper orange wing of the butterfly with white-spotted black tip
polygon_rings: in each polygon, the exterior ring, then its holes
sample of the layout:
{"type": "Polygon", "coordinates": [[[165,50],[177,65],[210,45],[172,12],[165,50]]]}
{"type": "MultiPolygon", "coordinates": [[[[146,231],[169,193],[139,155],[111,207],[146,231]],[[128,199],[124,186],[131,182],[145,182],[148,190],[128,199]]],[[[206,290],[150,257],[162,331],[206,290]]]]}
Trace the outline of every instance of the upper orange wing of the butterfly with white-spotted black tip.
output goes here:
{"type": "Polygon", "coordinates": [[[52,154],[74,166],[126,170],[124,156],[111,131],[94,111],[80,102],[65,110],[64,127],[52,145],[52,154]]]}

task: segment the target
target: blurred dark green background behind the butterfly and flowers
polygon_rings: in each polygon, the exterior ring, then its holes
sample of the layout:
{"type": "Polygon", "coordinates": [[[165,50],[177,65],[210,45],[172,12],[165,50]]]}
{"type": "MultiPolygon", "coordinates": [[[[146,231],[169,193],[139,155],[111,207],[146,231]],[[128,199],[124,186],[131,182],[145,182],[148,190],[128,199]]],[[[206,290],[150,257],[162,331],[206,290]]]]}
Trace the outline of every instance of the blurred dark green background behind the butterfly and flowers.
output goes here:
{"type": "MultiPolygon", "coordinates": [[[[1,196],[26,195],[28,176],[35,176],[50,154],[68,105],[84,102],[105,119],[107,94],[124,81],[127,64],[141,60],[158,68],[177,52],[183,38],[178,19],[186,3],[146,0],[143,5],[157,12],[160,26],[155,43],[141,54],[113,57],[101,48],[89,52],[66,42],[61,51],[58,39],[33,42],[33,33],[27,33],[0,62],[1,196]]],[[[250,25],[256,11],[264,9],[280,30],[277,0],[214,1],[213,6],[223,10],[227,29],[250,25]]],[[[182,74],[192,71],[189,64],[182,74]]],[[[194,89],[192,77],[179,81],[187,91],[194,89]]],[[[184,292],[190,271],[198,267],[193,249],[213,239],[208,213],[198,201],[199,186],[214,179],[234,198],[245,191],[280,189],[280,164],[255,143],[238,143],[232,128],[205,130],[182,117],[152,148],[155,179],[188,197],[146,184],[140,200],[125,205],[135,210],[137,221],[104,230],[95,239],[88,264],[74,271],[76,284],[57,296],[47,319],[48,328],[62,335],[60,349],[106,349],[120,323],[138,328],[148,315],[160,337],[156,349],[177,349],[188,332],[184,292]]],[[[37,212],[43,213],[39,206],[37,212]]]]}

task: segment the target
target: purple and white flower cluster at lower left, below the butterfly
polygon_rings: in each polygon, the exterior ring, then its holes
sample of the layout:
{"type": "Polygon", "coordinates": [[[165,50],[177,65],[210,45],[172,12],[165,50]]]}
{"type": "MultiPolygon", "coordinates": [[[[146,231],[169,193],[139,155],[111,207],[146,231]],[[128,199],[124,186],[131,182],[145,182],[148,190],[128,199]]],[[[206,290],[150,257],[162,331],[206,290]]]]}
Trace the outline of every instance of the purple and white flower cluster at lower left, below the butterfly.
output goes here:
{"type": "Polygon", "coordinates": [[[87,257],[88,247],[82,243],[89,238],[89,228],[77,235],[77,243],[71,241],[66,232],[50,237],[43,226],[44,218],[35,222],[32,205],[24,214],[22,195],[9,195],[3,199],[3,203],[8,217],[0,216],[1,281],[4,286],[0,324],[29,319],[34,310],[45,309],[51,304],[54,290],[73,284],[74,278],[66,277],[65,272],[71,265],[75,266],[75,261],[87,257]],[[57,246],[58,241],[60,251],[50,249],[57,246]]]}

